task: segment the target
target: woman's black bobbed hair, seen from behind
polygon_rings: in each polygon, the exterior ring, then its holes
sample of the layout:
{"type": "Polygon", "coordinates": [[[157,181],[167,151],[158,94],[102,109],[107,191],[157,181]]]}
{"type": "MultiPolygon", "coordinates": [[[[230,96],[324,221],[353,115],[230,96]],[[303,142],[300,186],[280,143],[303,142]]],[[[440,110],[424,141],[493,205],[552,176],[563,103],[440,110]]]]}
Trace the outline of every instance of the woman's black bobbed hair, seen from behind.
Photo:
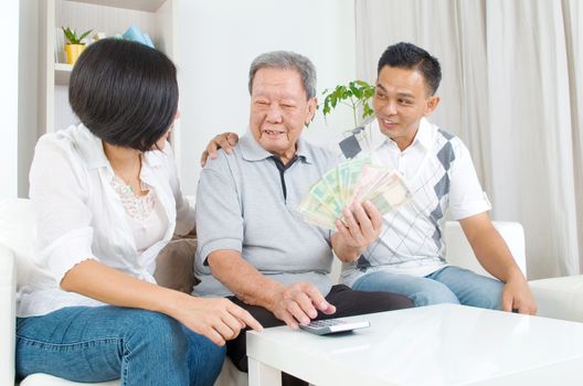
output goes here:
{"type": "Polygon", "coordinates": [[[80,56],[68,85],[73,111],[96,137],[150,150],[178,109],[176,66],[144,44],[105,39],[80,56]]]}

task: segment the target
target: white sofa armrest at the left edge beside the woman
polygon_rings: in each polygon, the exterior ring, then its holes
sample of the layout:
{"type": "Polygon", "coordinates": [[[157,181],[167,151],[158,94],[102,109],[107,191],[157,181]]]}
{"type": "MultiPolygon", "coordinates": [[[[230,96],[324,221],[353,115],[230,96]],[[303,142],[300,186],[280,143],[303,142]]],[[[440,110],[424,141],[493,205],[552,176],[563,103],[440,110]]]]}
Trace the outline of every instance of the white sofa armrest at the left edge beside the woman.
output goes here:
{"type": "Polygon", "coordinates": [[[0,385],[14,384],[17,265],[14,254],[0,244],[0,385]]]}

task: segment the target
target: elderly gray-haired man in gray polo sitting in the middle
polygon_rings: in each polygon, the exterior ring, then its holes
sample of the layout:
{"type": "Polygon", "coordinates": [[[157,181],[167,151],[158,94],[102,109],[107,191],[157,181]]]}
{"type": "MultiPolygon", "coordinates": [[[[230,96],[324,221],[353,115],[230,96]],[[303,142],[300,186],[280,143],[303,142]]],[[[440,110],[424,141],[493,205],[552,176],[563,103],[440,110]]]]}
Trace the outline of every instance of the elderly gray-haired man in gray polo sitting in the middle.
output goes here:
{"type": "MultiPolygon", "coordinates": [[[[259,55],[250,69],[250,131],[231,154],[220,151],[197,194],[198,296],[225,296],[264,326],[293,329],[314,319],[412,307],[403,296],[332,286],[332,249],[352,260],[374,242],[382,217],[370,202],[344,211],[338,232],[296,211],[310,185],[333,168],[333,154],[301,138],[316,110],[312,63],[290,52],[259,55]],[[212,274],[212,275],[211,275],[212,274]]],[[[245,336],[227,346],[245,371],[245,336]]]]}

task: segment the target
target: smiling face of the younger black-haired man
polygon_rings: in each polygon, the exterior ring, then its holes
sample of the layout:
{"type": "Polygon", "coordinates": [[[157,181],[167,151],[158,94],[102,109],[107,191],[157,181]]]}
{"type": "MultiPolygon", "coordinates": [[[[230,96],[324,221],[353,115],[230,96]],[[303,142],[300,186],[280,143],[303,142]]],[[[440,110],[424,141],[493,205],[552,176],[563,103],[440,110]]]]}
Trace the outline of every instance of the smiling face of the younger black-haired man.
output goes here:
{"type": "Polygon", "coordinates": [[[438,103],[438,97],[430,95],[418,71],[381,68],[372,108],[382,133],[395,141],[401,150],[413,142],[421,118],[430,115],[438,103]]]}

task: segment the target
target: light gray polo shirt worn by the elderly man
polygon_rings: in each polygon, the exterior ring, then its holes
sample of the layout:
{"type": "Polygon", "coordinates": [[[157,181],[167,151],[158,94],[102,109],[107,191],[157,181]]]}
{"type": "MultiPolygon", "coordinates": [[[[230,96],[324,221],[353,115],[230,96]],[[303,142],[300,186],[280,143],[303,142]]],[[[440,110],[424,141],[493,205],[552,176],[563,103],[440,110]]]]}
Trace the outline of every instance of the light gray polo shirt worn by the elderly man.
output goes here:
{"type": "Polygon", "coordinates": [[[310,186],[335,167],[337,157],[300,138],[298,160],[284,171],[284,197],[273,154],[250,132],[231,154],[220,150],[218,156],[202,170],[197,193],[194,275],[201,282],[193,293],[232,294],[204,265],[214,250],[232,249],[271,279],[284,285],[311,282],[328,294],[330,232],[304,222],[297,206],[310,186]]]}

